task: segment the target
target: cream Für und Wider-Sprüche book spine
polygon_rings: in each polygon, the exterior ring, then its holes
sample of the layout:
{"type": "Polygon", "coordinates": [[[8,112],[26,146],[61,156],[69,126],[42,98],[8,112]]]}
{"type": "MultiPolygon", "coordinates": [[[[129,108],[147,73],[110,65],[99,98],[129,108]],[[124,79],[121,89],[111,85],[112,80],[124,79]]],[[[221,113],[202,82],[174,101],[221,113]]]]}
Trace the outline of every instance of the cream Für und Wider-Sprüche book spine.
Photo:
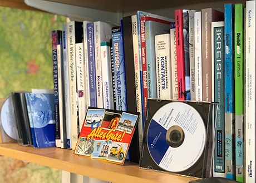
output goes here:
{"type": "Polygon", "coordinates": [[[70,90],[70,121],[71,146],[75,149],[77,141],[77,90],[76,90],[76,48],[75,48],[75,22],[67,23],[68,73],[70,90]]]}

